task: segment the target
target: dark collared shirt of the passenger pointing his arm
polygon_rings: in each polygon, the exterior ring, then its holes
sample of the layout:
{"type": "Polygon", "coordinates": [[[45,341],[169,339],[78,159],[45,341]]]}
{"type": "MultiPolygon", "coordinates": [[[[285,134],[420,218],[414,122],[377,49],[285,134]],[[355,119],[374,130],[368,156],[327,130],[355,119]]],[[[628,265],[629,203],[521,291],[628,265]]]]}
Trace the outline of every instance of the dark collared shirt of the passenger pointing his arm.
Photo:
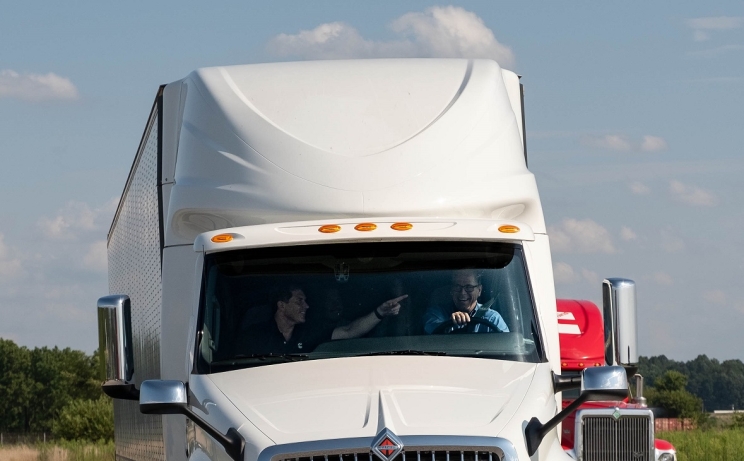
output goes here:
{"type": "Polygon", "coordinates": [[[252,354],[303,354],[310,353],[319,344],[330,341],[333,336],[332,326],[314,325],[306,323],[295,325],[292,336],[284,339],[276,321],[271,318],[265,322],[252,325],[245,331],[241,353],[252,354]]]}

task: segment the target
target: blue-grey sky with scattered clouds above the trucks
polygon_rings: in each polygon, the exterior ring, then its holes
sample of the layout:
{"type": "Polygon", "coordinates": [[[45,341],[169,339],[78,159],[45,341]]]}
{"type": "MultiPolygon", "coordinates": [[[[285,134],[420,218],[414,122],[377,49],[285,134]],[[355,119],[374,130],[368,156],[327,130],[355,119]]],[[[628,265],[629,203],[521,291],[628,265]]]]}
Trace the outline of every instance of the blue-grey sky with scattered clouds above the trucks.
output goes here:
{"type": "Polygon", "coordinates": [[[211,3],[1,3],[0,337],[96,349],[106,234],[159,85],[465,57],[523,77],[558,296],[633,279],[641,355],[744,360],[744,3],[211,3]]]}

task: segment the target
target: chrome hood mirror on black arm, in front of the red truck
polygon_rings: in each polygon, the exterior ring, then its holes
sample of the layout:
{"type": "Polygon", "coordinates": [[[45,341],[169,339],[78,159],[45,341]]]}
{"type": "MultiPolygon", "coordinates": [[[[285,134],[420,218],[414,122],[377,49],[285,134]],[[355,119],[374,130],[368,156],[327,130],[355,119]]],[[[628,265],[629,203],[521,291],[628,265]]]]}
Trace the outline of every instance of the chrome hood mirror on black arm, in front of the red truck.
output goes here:
{"type": "Polygon", "coordinates": [[[595,400],[622,400],[628,396],[628,376],[623,367],[594,367],[585,368],[581,372],[581,393],[579,398],[571,402],[560,413],[545,424],[537,418],[532,418],[524,429],[527,443],[527,454],[532,456],[540,446],[545,434],[566,419],[581,404],[595,400]]]}

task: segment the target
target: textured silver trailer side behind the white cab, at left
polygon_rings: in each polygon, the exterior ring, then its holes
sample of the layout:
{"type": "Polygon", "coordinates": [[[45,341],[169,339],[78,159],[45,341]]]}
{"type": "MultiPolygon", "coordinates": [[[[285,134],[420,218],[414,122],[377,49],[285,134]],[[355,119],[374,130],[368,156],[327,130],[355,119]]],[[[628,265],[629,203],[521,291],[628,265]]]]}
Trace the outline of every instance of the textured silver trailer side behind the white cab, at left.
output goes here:
{"type": "MultiPolygon", "coordinates": [[[[153,109],[108,242],[109,290],[129,295],[134,379],[160,378],[162,299],[158,201],[158,114],[153,109]]],[[[117,459],[162,460],[162,417],[143,415],[135,401],[115,400],[117,459]]]]}

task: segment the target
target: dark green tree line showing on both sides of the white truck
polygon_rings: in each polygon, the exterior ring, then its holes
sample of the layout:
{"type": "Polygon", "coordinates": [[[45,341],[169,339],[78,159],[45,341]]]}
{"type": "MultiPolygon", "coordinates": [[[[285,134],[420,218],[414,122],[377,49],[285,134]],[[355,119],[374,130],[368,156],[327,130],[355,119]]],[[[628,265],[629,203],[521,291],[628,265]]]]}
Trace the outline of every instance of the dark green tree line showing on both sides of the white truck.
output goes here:
{"type": "MultiPolygon", "coordinates": [[[[744,363],[700,355],[678,362],[640,357],[650,406],[672,417],[744,409],[744,363]]],[[[112,439],[113,405],[101,392],[98,355],[70,348],[28,349],[0,338],[0,432],[47,432],[66,439],[112,439]]]]}

